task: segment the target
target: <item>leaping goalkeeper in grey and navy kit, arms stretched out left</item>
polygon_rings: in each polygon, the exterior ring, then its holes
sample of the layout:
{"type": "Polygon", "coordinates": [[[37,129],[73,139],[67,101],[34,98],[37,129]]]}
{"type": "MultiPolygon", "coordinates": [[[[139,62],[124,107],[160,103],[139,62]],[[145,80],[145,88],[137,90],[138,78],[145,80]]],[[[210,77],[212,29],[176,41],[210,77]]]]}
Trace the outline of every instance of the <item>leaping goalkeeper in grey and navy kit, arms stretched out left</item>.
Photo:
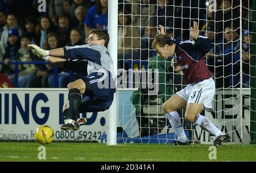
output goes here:
{"type": "Polygon", "coordinates": [[[63,106],[63,130],[79,129],[79,113],[105,111],[113,102],[115,78],[113,61],[107,49],[109,34],[102,29],[92,29],[88,39],[87,45],[53,50],[28,45],[32,53],[55,66],[88,74],[68,84],[69,103],[63,106]],[[85,95],[84,99],[81,95],[85,95]]]}

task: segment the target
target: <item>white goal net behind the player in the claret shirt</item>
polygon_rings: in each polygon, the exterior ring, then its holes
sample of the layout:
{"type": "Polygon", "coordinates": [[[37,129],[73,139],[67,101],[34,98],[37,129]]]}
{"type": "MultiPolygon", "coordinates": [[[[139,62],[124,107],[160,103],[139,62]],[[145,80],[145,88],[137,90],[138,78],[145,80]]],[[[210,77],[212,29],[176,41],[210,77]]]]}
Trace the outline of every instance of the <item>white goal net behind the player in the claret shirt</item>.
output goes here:
{"type": "MultiPolygon", "coordinates": [[[[203,111],[237,144],[255,142],[255,1],[127,0],[118,3],[118,142],[168,144],[176,140],[162,104],[186,85],[182,71],[151,48],[158,25],[190,40],[193,21],[212,49],[204,58],[216,82],[213,111],[203,111]]],[[[178,113],[193,142],[214,136],[178,113]]]]}

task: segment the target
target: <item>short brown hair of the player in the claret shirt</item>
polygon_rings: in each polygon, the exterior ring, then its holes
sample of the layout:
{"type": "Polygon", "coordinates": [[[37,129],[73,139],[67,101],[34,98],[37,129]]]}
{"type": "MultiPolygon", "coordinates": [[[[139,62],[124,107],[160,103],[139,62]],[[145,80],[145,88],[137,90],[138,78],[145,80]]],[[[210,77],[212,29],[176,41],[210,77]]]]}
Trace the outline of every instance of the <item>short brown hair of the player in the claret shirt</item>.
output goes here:
{"type": "Polygon", "coordinates": [[[158,45],[159,47],[164,47],[164,45],[166,44],[172,45],[174,43],[175,43],[175,40],[172,37],[169,37],[164,34],[159,34],[155,36],[154,41],[152,43],[152,48],[155,49],[156,45],[158,45]]]}

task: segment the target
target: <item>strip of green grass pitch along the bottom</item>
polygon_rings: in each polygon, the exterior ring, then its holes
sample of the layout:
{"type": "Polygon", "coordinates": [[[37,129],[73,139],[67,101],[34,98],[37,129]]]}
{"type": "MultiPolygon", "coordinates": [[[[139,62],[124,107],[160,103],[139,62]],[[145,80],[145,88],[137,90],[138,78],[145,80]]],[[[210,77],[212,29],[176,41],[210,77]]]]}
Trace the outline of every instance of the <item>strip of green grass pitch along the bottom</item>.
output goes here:
{"type": "MultiPolygon", "coordinates": [[[[0,142],[0,161],[42,161],[36,142],[0,142]]],[[[170,146],[52,142],[43,161],[211,161],[210,145],[170,146]]],[[[222,145],[213,161],[256,161],[256,145],[222,145]]]]}

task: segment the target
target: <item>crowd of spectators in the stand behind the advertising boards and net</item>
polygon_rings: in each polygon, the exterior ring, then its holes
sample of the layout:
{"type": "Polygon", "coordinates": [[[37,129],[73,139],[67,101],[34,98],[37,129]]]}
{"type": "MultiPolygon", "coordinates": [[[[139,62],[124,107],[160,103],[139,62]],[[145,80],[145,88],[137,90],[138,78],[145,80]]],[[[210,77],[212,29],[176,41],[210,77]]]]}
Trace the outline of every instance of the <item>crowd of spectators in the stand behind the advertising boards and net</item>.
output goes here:
{"type": "MultiPolygon", "coordinates": [[[[13,61],[40,61],[28,51],[28,44],[43,49],[86,44],[91,28],[108,29],[108,0],[46,0],[46,11],[39,12],[37,0],[0,0],[0,70],[14,82],[13,61]]],[[[199,23],[201,35],[212,41],[205,57],[214,74],[216,87],[240,87],[242,60],[243,87],[249,87],[250,23],[247,2],[243,2],[240,28],[240,1],[217,1],[211,10],[206,1],[119,0],[118,68],[134,70],[144,66],[127,60],[150,60],[156,56],[151,48],[158,25],[166,27],[169,36],[189,40],[193,20],[199,23]],[[133,3],[131,3],[133,2],[133,3]],[[233,3],[233,4],[232,4],[233,3]],[[242,29],[242,35],[240,35],[242,29]],[[240,39],[242,37],[242,58],[240,39]]],[[[137,61],[137,62],[138,62],[137,61]]],[[[19,64],[18,87],[56,87],[53,66],[19,64]]],[[[174,68],[176,75],[181,73],[174,68]]],[[[58,69],[57,87],[80,75],[58,69]]],[[[180,81],[179,81],[180,82],[180,81]]]]}

